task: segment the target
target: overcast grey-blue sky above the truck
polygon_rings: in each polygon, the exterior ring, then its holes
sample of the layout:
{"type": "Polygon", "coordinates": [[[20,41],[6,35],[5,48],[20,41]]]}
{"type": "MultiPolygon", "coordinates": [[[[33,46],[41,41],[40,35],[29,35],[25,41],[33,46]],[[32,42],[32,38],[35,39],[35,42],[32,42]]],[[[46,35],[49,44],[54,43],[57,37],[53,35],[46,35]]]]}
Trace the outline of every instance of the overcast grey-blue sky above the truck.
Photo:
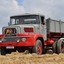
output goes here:
{"type": "Polygon", "coordinates": [[[40,13],[45,17],[64,20],[64,0],[0,0],[0,33],[11,15],[40,13]]]}

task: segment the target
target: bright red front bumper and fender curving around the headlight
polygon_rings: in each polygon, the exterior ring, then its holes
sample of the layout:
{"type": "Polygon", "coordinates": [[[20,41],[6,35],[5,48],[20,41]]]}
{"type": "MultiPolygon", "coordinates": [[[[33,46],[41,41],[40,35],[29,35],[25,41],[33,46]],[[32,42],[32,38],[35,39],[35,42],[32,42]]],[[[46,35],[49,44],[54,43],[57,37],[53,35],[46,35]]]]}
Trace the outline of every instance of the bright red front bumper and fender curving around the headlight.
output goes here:
{"type": "MultiPolygon", "coordinates": [[[[0,46],[34,46],[36,44],[36,39],[42,37],[41,34],[17,34],[18,37],[25,37],[25,42],[3,42],[0,46]]],[[[42,37],[43,38],[43,37],[42,37]]]]}

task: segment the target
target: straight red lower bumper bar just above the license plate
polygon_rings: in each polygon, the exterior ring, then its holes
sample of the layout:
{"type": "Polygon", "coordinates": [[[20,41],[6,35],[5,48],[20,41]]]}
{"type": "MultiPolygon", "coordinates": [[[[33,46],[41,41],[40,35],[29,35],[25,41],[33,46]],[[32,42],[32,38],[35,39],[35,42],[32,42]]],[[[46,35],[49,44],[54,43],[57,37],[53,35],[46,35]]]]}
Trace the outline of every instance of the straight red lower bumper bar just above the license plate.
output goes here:
{"type": "Polygon", "coordinates": [[[0,46],[34,46],[33,42],[3,42],[0,43],[0,46]]]}

